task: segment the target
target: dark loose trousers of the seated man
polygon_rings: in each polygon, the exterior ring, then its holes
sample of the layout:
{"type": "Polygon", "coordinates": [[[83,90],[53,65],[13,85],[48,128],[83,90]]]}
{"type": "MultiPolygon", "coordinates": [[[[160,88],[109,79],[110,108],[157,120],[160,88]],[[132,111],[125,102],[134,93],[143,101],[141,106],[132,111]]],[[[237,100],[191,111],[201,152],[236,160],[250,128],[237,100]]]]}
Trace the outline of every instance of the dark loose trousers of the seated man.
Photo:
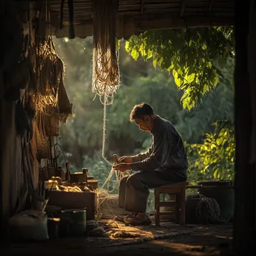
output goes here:
{"type": "Polygon", "coordinates": [[[138,171],[122,178],[119,186],[119,207],[130,212],[144,213],[149,189],[183,181],[186,181],[186,169],[138,171]]]}

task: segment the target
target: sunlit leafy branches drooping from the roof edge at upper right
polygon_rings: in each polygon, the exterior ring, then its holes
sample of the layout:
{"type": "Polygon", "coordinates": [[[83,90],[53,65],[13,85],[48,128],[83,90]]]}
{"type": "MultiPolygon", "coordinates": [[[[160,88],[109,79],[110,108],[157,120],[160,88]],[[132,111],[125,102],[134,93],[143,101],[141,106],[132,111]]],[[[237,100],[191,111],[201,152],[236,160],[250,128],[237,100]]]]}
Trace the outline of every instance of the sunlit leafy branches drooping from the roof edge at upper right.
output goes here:
{"type": "Polygon", "coordinates": [[[172,72],[184,92],[183,108],[190,110],[218,85],[220,69],[234,57],[234,34],[220,27],[146,31],[132,36],[125,47],[135,60],[151,58],[154,67],[172,72]]]}

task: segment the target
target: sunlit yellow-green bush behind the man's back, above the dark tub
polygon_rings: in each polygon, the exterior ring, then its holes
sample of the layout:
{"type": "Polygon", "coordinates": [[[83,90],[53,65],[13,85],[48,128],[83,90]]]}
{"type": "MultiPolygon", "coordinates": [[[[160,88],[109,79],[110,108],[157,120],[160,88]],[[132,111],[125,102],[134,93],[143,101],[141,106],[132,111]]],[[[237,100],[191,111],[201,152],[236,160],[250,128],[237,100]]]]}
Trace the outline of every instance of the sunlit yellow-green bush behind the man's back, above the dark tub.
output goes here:
{"type": "Polygon", "coordinates": [[[213,125],[216,130],[205,133],[204,144],[188,146],[191,180],[234,180],[234,126],[227,126],[227,122],[213,125]]]}

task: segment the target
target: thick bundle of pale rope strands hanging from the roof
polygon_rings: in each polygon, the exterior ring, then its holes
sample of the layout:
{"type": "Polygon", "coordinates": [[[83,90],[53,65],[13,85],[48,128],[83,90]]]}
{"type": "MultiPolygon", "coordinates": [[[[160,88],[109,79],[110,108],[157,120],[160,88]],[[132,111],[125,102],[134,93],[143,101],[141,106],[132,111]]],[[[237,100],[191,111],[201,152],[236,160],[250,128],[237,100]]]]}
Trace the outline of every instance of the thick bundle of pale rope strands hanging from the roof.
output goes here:
{"type": "Polygon", "coordinates": [[[112,104],[120,84],[116,22],[118,0],[94,0],[94,50],[92,92],[103,104],[112,104]],[[101,97],[104,96],[104,101],[101,97]]]}

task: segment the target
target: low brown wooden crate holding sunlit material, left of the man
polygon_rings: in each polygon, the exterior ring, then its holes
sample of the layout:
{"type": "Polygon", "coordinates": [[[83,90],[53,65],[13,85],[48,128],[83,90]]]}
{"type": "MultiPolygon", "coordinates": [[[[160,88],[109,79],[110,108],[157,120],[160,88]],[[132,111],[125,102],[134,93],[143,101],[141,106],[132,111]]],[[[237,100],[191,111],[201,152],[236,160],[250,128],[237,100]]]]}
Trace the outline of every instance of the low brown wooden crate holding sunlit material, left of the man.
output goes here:
{"type": "Polygon", "coordinates": [[[86,219],[95,219],[97,211],[96,192],[49,191],[49,205],[64,209],[86,208],[86,219]]]}

